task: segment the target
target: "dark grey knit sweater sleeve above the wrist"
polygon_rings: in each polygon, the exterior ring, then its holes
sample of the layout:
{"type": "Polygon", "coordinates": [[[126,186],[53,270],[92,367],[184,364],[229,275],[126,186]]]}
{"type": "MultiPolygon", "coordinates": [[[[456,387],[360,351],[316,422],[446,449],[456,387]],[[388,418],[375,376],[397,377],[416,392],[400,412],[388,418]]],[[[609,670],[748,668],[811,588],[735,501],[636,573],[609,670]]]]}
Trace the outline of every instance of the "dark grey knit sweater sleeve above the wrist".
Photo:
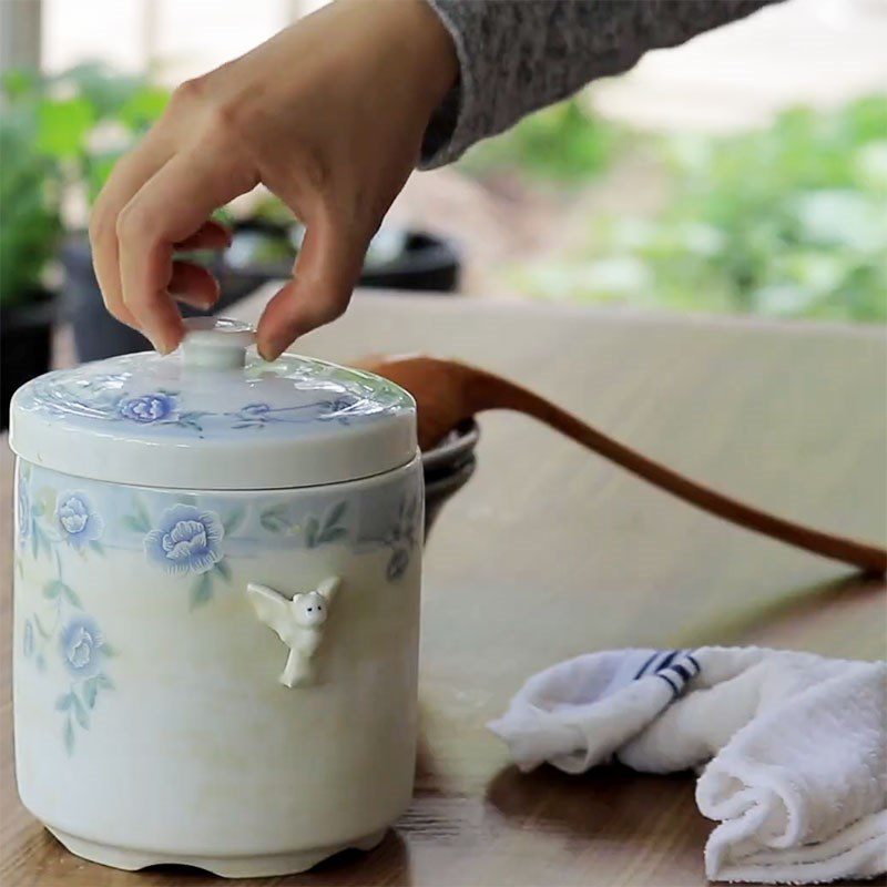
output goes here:
{"type": "Polygon", "coordinates": [[[421,167],[776,0],[427,0],[456,43],[459,81],[434,115],[421,167]]]}

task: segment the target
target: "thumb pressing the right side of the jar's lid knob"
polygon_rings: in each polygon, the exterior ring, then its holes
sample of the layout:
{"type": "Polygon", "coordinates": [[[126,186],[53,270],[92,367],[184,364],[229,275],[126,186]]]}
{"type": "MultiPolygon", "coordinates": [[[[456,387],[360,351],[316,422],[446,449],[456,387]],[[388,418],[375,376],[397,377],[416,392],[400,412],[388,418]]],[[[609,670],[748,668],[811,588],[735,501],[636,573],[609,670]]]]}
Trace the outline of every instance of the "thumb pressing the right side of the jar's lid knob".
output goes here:
{"type": "Polygon", "coordinates": [[[299,336],[345,312],[368,243],[368,236],[357,236],[334,220],[308,223],[293,279],[272,297],[258,322],[258,351],[265,360],[276,359],[299,336]]]}

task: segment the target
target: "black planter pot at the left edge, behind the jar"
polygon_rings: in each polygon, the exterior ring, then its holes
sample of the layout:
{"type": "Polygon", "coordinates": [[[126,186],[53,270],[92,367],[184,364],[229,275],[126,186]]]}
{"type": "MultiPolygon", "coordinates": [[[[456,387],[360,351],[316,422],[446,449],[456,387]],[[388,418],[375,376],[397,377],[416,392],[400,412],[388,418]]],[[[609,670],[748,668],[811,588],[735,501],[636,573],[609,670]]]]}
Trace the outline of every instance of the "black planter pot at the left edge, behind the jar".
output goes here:
{"type": "Polygon", "coordinates": [[[0,310],[0,430],[9,427],[16,389],[50,368],[57,299],[40,293],[28,304],[0,310]]]}

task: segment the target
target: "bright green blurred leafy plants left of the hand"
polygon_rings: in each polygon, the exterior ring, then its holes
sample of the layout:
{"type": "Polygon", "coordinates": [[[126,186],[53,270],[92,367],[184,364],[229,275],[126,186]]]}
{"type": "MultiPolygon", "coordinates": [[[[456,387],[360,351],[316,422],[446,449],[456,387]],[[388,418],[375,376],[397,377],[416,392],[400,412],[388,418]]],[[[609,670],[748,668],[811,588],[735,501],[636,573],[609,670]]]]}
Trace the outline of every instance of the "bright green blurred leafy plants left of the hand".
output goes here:
{"type": "Polygon", "coordinates": [[[0,304],[9,307],[41,294],[65,195],[80,190],[91,203],[169,94],[98,63],[51,77],[9,71],[0,90],[0,304]]]}

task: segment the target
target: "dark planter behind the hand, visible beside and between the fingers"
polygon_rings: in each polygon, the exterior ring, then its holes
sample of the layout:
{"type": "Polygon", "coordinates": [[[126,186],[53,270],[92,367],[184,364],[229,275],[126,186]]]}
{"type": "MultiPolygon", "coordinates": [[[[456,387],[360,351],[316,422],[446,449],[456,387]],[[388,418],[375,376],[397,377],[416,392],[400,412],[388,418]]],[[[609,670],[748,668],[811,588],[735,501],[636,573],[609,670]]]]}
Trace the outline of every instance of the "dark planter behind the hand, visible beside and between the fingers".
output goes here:
{"type": "MultiPolygon", "coordinates": [[[[212,312],[182,306],[185,317],[221,314],[225,308],[268,281],[288,277],[293,269],[297,237],[294,225],[262,220],[234,226],[234,242],[227,253],[215,256],[210,267],[221,286],[212,312]]],[[[373,251],[359,285],[414,292],[452,293],[459,282],[461,261],[452,244],[421,232],[386,231],[386,248],[373,251]],[[392,236],[394,235],[394,236],[392,236]]],[[[99,360],[120,354],[142,351],[146,339],[104,309],[92,269],[92,255],[84,234],[71,237],[61,249],[64,267],[64,312],[74,332],[81,360],[99,360]]]]}

